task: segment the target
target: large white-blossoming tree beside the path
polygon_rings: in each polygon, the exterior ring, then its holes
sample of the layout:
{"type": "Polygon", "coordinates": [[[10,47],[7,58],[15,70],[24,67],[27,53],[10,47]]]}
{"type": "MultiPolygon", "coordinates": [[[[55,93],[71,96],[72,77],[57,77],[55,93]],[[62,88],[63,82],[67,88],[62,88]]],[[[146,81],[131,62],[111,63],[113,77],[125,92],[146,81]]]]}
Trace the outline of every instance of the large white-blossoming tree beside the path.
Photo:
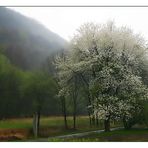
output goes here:
{"type": "Polygon", "coordinates": [[[147,100],[139,71],[146,56],[145,41],[130,29],[112,22],[87,23],[71,41],[59,74],[64,79],[73,74],[81,78],[92,117],[103,119],[109,131],[110,120],[122,119],[126,124],[147,100]]]}

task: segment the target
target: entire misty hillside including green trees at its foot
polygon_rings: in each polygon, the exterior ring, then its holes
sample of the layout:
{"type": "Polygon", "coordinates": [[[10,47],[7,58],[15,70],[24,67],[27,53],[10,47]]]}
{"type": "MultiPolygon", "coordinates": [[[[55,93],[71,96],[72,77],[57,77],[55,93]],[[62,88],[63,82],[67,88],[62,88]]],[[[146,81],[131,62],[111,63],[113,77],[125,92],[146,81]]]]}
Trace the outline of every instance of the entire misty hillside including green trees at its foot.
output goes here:
{"type": "Polygon", "coordinates": [[[32,116],[41,87],[47,88],[40,97],[43,114],[61,112],[52,62],[66,45],[37,21],[0,8],[0,119],[32,116]]]}

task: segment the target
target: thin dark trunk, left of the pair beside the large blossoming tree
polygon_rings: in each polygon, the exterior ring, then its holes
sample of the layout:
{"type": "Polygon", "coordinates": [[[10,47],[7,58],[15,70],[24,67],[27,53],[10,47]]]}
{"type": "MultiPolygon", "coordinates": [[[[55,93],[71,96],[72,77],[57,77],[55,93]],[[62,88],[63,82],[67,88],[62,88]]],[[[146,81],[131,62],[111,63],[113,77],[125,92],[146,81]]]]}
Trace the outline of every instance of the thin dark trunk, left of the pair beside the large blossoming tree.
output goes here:
{"type": "Polygon", "coordinates": [[[63,112],[63,117],[64,117],[64,126],[65,126],[65,129],[68,128],[68,125],[67,125],[67,113],[66,113],[66,101],[65,101],[65,97],[62,97],[62,112],[63,112]]]}

